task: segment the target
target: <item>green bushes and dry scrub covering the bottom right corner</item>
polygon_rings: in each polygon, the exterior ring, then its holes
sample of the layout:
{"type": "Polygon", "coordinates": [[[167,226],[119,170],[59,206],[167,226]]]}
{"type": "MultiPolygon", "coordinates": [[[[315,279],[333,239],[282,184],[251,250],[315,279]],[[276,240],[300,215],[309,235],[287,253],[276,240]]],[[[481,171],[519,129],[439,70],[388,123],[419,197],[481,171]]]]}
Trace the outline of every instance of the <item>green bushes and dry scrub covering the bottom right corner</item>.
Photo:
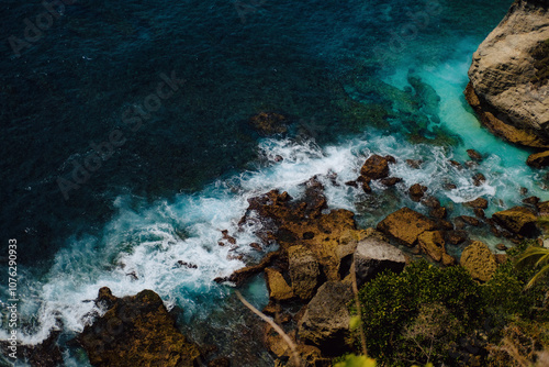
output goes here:
{"type": "MultiPolygon", "coordinates": [[[[509,254],[528,254],[528,245],[509,254]]],[[[359,291],[368,354],[382,366],[533,364],[549,346],[549,283],[525,289],[535,274],[513,260],[486,283],[426,260],[383,273],[359,291]]]]}

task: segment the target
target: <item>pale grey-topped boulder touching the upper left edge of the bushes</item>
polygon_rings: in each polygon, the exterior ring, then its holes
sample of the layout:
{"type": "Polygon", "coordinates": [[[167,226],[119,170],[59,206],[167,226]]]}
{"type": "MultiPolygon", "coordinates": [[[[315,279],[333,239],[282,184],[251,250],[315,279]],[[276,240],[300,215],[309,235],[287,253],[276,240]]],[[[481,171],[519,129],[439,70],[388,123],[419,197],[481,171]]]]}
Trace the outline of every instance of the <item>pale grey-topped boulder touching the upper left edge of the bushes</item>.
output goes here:
{"type": "Polygon", "coordinates": [[[400,273],[406,265],[402,251],[374,236],[357,244],[354,260],[358,287],[385,269],[400,273]]]}

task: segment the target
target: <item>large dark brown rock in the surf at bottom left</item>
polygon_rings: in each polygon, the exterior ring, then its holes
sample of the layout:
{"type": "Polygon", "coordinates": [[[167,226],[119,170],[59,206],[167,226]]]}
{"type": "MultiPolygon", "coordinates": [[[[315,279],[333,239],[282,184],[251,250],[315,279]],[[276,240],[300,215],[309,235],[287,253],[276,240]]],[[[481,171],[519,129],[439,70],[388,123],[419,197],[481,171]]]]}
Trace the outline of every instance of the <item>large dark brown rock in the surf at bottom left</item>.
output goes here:
{"type": "Polygon", "coordinates": [[[173,318],[154,291],[144,290],[133,297],[116,298],[104,287],[96,302],[108,311],[77,337],[91,365],[198,365],[198,346],[177,330],[173,318]]]}

